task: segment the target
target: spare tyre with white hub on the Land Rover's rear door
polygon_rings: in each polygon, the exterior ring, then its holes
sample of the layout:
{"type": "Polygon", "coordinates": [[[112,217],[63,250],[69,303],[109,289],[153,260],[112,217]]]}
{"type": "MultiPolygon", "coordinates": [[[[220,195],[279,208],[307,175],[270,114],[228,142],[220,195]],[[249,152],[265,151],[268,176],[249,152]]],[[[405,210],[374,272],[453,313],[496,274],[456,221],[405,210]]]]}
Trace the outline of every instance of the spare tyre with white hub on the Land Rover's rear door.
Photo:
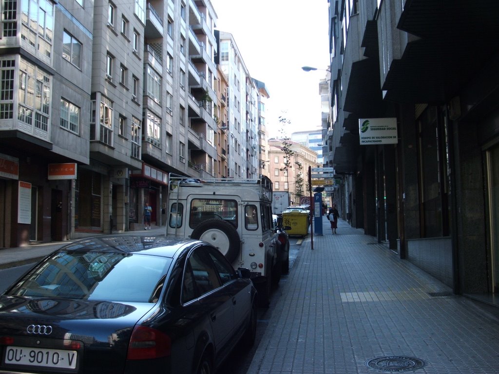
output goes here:
{"type": "Polygon", "coordinates": [[[191,234],[192,239],[204,240],[218,248],[233,263],[241,252],[241,239],[232,223],[212,218],[198,224],[191,234]]]}

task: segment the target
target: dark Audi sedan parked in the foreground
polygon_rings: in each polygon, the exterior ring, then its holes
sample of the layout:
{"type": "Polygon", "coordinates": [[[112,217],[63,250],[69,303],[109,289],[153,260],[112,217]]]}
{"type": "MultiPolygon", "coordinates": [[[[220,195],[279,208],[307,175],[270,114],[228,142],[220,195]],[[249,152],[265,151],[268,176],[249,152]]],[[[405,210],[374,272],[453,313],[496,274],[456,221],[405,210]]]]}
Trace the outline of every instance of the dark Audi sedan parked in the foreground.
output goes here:
{"type": "Polygon", "coordinates": [[[0,296],[0,373],[213,373],[253,344],[255,296],[203,241],[83,239],[0,296]]]}

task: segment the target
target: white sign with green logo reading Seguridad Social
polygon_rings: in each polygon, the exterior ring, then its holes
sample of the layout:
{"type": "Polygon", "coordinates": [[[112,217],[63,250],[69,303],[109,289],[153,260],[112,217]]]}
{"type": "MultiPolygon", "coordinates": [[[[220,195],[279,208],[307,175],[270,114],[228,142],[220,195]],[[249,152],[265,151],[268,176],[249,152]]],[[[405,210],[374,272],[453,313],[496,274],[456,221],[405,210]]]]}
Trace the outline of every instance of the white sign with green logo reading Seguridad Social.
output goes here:
{"type": "Polygon", "coordinates": [[[397,118],[359,118],[360,145],[397,144],[397,118]]]}

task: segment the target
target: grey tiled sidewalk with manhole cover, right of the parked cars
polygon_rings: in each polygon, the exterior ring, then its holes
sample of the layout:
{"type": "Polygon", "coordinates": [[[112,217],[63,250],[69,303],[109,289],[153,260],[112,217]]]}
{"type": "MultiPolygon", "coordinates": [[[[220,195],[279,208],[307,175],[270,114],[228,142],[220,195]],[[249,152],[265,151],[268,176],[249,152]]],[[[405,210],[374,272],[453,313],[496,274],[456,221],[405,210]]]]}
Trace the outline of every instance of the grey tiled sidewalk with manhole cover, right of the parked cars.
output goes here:
{"type": "Polygon", "coordinates": [[[248,374],[499,373],[499,313],[362,230],[323,224],[313,250],[303,241],[248,374]]]}

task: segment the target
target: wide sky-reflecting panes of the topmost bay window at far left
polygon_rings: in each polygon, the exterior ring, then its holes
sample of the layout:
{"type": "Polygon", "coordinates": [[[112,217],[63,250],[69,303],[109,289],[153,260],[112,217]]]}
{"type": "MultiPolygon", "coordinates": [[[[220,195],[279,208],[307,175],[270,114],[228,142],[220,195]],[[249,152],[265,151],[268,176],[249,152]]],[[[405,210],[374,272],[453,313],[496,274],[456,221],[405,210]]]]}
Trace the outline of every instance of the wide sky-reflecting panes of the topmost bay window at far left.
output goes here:
{"type": "MultiPolygon", "coordinates": [[[[51,62],[54,5],[45,0],[21,0],[21,44],[44,62],[51,62]]],[[[2,9],[2,13],[5,10],[2,9]]],[[[4,17],[4,16],[3,16],[4,17]]]]}

